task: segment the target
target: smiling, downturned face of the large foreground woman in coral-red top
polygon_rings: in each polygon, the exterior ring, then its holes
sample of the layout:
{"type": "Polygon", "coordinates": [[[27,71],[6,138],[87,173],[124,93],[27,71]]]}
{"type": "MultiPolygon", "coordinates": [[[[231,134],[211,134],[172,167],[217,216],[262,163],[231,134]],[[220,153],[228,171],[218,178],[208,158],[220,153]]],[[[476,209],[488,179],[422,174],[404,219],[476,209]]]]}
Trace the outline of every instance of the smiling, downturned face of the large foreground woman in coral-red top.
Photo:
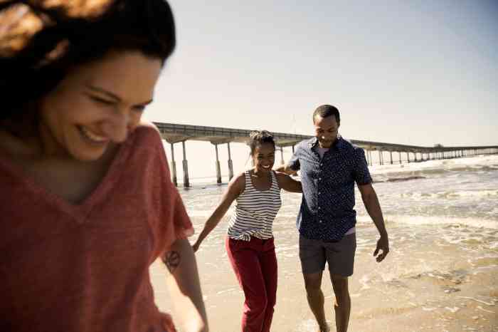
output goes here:
{"type": "Polygon", "coordinates": [[[126,140],[152,102],[161,60],[138,51],[109,53],[73,68],[41,99],[43,151],[75,160],[97,160],[126,140]]]}

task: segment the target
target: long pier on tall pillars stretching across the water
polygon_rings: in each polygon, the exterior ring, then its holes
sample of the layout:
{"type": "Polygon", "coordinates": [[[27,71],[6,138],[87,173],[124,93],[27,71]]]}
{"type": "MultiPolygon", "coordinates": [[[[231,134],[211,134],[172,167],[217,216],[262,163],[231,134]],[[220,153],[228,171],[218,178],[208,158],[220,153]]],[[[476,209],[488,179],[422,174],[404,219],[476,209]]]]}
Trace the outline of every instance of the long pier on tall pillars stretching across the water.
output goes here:
{"type": "MultiPolygon", "coordinates": [[[[174,144],[181,143],[183,148],[182,167],[184,173],[184,187],[190,187],[189,182],[189,162],[186,159],[186,141],[200,140],[210,142],[214,146],[216,154],[216,182],[221,184],[221,165],[218,157],[218,145],[226,145],[228,149],[228,177],[233,177],[233,162],[231,160],[230,143],[245,143],[249,140],[249,134],[253,130],[232,129],[220,127],[206,127],[203,125],[181,125],[175,123],[157,123],[161,137],[171,145],[171,180],[174,185],[178,186],[176,177],[176,161],[174,157],[174,144]]],[[[284,164],[284,148],[291,147],[294,152],[295,145],[302,140],[312,138],[311,135],[297,135],[290,133],[272,132],[277,145],[277,151],[280,151],[280,164],[284,164]]],[[[369,165],[373,165],[373,153],[378,153],[378,165],[403,163],[403,162],[420,162],[425,160],[440,160],[457,157],[466,157],[469,155],[495,154],[498,153],[498,145],[493,146],[441,146],[423,147],[415,145],[402,145],[386,142],[371,142],[366,140],[349,140],[352,144],[357,145],[365,150],[366,160],[369,165]],[[397,160],[393,159],[393,154],[397,160]]]]}

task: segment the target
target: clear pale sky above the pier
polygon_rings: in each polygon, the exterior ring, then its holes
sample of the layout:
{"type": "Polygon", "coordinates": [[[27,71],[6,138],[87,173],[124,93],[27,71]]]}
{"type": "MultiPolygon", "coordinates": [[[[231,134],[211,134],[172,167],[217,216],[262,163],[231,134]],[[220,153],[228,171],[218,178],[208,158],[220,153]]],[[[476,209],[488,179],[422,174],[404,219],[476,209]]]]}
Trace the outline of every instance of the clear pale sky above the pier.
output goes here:
{"type": "Polygon", "coordinates": [[[149,120],[311,135],[330,103],[345,138],[498,144],[498,1],[169,3],[149,120]]]}

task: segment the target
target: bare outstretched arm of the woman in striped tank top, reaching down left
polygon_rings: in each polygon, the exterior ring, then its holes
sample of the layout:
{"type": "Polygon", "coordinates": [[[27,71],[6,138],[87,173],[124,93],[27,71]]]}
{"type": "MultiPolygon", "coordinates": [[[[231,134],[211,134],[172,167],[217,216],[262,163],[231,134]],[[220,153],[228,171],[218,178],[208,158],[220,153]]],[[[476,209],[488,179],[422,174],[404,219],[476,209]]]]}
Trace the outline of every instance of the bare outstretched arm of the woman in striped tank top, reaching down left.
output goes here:
{"type": "Polygon", "coordinates": [[[201,246],[201,242],[205,239],[209,233],[218,225],[221,218],[226,214],[228,209],[230,208],[232,202],[240,195],[241,192],[244,191],[245,187],[245,174],[242,173],[237,177],[234,177],[232,181],[228,184],[228,188],[226,192],[221,197],[221,202],[218,204],[218,207],[214,210],[211,217],[208,218],[206,224],[204,224],[204,228],[199,234],[196,243],[192,246],[194,252],[198,250],[201,246]]]}

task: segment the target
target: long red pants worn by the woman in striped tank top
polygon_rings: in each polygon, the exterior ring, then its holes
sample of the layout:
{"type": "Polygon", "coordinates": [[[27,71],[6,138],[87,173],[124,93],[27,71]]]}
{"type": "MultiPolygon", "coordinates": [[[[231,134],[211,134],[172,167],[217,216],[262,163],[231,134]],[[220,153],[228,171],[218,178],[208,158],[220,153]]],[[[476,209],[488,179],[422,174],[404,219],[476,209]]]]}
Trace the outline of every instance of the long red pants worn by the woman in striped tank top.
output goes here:
{"type": "Polygon", "coordinates": [[[245,294],[243,332],[269,332],[277,298],[277,256],[273,238],[226,237],[226,251],[245,294]]]}

